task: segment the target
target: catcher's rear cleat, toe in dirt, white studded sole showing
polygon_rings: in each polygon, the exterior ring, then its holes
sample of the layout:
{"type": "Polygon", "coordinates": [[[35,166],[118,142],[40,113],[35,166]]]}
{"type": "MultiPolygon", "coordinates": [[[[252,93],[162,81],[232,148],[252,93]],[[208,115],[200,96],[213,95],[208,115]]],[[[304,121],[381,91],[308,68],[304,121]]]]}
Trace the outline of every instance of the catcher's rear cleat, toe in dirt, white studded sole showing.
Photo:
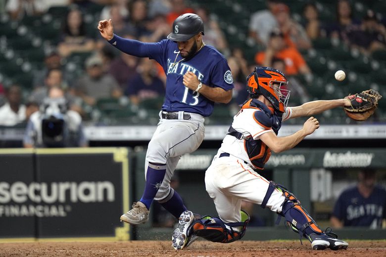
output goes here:
{"type": "Polygon", "coordinates": [[[195,241],[195,237],[188,236],[188,229],[193,222],[193,217],[191,211],[185,211],[179,217],[178,227],[172,234],[172,245],[175,250],[184,249],[195,241]]]}

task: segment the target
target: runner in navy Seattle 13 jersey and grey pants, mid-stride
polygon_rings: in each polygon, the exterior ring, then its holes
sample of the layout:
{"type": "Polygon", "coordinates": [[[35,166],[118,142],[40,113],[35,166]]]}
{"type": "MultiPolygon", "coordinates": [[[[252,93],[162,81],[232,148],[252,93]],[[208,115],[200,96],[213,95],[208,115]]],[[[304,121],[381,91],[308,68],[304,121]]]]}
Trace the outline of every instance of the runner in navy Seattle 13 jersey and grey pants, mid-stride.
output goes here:
{"type": "Polygon", "coordinates": [[[99,21],[98,30],[119,50],[156,60],[166,74],[160,122],[146,153],[145,191],[121,220],[145,223],[153,199],[179,218],[187,209],[180,195],[170,187],[170,178],[181,155],[193,152],[201,144],[204,117],[212,113],[214,102],[228,103],[232,98],[233,78],[227,60],[202,41],[203,22],[193,13],[179,16],[167,40],[158,43],[114,35],[111,19],[99,21]]]}

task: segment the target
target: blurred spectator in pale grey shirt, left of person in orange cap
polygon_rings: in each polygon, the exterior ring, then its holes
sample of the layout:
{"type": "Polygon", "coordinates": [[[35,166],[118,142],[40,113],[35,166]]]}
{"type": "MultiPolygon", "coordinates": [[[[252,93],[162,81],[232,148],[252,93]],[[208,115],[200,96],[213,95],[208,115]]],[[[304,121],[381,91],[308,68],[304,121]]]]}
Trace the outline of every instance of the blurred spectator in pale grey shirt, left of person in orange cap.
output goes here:
{"type": "Polygon", "coordinates": [[[249,37],[254,39],[256,43],[267,45],[269,34],[278,26],[278,22],[273,15],[277,2],[277,0],[266,0],[267,9],[259,10],[251,15],[249,37]]]}

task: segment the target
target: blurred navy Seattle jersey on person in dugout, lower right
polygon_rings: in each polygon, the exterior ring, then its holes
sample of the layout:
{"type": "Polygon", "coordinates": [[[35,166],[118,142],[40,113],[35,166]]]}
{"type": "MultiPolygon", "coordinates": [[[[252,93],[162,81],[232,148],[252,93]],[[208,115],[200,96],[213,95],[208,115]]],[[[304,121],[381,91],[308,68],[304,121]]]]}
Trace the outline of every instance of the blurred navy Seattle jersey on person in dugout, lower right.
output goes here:
{"type": "Polygon", "coordinates": [[[375,187],[373,193],[364,198],[355,186],[345,190],[335,204],[333,215],[343,220],[344,226],[366,226],[381,228],[386,217],[386,190],[375,187]]]}

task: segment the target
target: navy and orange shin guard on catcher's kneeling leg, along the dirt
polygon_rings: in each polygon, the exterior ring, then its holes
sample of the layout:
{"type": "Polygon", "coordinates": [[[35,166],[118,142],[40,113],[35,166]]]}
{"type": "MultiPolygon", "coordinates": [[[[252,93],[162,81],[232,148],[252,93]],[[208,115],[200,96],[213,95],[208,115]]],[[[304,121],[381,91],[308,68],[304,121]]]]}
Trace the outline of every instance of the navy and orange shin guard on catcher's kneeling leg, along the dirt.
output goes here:
{"type": "Polygon", "coordinates": [[[192,233],[208,241],[232,243],[241,239],[249,222],[249,215],[241,210],[241,222],[225,223],[220,218],[209,215],[197,219],[192,224],[192,233]]]}

